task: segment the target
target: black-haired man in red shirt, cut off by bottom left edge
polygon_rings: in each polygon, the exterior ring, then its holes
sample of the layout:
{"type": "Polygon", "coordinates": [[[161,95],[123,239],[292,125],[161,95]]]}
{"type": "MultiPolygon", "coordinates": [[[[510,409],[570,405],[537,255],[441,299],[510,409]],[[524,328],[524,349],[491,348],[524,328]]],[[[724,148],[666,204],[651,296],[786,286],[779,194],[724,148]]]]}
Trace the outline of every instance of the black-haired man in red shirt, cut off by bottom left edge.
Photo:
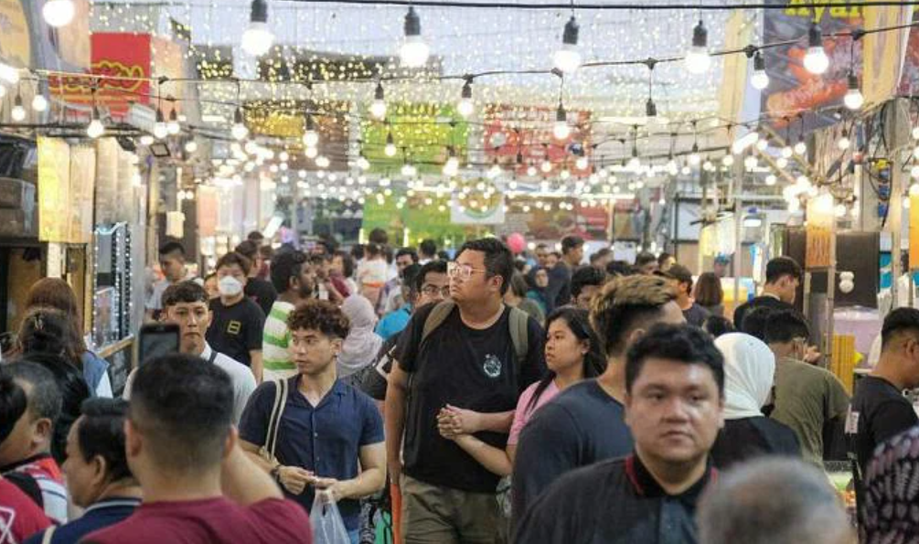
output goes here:
{"type": "MultiPolygon", "coordinates": [[[[26,392],[6,370],[0,370],[0,444],[26,413],[26,392]]],[[[17,544],[51,525],[38,504],[0,477],[0,544],[17,544]]]]}

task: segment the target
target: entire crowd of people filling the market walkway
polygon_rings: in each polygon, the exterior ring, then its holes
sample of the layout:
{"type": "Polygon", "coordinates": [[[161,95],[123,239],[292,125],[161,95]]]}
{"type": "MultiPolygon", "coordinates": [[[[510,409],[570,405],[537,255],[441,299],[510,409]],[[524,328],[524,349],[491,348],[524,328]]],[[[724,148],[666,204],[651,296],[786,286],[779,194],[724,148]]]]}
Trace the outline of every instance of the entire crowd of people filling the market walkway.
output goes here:
{"type": "Polygon", "coordinates": [[[919,534],[919,310],[886,317],[850,399],[789,257],[730,316],[723,257],[694,276],[584,245],[255,232],[193,278],[171,242],[146,315],[179,348],[124,391],[73,290],[42,279],[0,365],[0,544],[312,542],[329,504],[354,544],[919,534]],[[826,459],[852,461],[857,531],[826,459]]]}

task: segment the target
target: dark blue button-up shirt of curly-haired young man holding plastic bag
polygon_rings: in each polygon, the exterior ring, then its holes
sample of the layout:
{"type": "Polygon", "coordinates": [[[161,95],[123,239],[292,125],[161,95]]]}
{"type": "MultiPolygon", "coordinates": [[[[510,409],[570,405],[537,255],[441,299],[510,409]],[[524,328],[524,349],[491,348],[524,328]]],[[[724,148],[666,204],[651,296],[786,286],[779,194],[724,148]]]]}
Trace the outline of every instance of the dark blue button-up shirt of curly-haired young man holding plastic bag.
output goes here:
{"type": "MultiPolygon", "coordinates": [[[[360,448],[384,440],[380,411],[369,396],[342,380],[336,380],[313,407],[300,392],[300,381],[300,374],[288,379],[288,400],[278,427],[275,456],[282,465],[310,470],[320,478],[356,478],[360,448]]],[[[239,435],[246,442],[265,445],[277,387],[274,381],[267,381],[249,398],[239,425],[239,435]]],[[[315,491],[312,486],[300,495],[283,491],[310,512],[315,491]]],[[[348,531],[359,527],[359,501],[344,499],[338,509],[348,531]]]]}

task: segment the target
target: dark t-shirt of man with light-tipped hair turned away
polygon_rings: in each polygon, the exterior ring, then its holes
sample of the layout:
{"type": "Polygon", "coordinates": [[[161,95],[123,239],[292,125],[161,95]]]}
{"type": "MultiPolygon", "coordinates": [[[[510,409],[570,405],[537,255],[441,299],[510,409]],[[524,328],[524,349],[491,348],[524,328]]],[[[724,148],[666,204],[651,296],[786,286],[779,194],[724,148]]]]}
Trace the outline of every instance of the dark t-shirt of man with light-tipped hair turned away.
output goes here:
{"type": "Polygon", "coordinates": [[[576,383],[539,408],[517,441],[513,519],[565,472],[627,455],[632,436],[624,416],[596,380],[576,383]]]}

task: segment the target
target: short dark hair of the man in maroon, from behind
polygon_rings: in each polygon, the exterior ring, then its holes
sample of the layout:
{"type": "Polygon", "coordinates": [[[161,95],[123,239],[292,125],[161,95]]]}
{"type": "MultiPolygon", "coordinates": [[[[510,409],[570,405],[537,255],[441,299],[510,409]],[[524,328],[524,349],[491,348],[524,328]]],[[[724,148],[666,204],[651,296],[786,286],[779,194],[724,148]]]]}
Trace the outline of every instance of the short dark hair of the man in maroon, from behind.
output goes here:
{"type": "Polygon", "coordinates": [[[220,465],[233,425],[233,382],[200,357],[154,357],[134,376],[128,417],[158,468],[209,469],[220,465]]]}

